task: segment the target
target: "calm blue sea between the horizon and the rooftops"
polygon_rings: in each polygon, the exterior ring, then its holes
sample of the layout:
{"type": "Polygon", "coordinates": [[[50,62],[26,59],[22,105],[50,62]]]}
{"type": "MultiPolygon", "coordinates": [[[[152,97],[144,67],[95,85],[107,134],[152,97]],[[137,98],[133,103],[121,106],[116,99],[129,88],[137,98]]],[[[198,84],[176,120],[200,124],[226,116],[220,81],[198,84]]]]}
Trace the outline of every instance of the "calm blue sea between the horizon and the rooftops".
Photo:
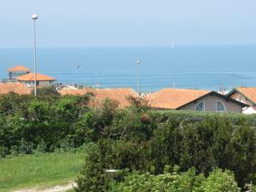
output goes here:
{"type": "MultiPolygon", "coordinates": [[[[38,49],[38,71],[61,83],[137,89],[219,90],[256,86],[256,46],[38,49]],[[80,65],[78,68],[77,66],[80,65]]],[[[0,49],[0,78],[15,65],[33,66],[32,49],[0,49]]]]}

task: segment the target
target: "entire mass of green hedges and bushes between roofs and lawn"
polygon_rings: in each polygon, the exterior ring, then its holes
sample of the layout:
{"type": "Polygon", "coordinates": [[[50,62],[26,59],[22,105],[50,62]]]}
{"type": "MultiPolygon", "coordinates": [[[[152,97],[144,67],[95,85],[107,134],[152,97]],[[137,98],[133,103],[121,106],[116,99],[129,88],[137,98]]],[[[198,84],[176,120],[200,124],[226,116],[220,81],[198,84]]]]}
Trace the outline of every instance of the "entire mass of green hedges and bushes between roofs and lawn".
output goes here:
{"type": "Polygon", "coordinates": [[[131,108],[109,100],[90,108],[90,97],[45,91],[37,98],[1,96],[0,156],[86,144],[76,188],[86,192],[136,191],[137,184],[137,191],[148,192],[178,191],[177,186],[211,191],[213,185],[214,191],[238,191],[256,182],[256,116],[154,111],[136,99],[131,108]],[[117,176],[110,177],[108,169],[118,170],[117,176]]]}

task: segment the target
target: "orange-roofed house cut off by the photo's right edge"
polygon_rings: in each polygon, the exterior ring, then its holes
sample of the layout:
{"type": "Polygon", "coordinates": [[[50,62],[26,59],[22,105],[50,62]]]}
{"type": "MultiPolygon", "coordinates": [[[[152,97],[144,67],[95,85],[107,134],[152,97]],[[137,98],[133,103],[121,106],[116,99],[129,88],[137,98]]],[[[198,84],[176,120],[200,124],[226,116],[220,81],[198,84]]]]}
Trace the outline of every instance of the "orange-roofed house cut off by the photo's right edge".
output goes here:
{"type": "Polygon", "coordinates": [[[246,103],[249,108],[244,108],[243,113],[256,113],[256,87],[237,87],[226,96],[246,103]]]}

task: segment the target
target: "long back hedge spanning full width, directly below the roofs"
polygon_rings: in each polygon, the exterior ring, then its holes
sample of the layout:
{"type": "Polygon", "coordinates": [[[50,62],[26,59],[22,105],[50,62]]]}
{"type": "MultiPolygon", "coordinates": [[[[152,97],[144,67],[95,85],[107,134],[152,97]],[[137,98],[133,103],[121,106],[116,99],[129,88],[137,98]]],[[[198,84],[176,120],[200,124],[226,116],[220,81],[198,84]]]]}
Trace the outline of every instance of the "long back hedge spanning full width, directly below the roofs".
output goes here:
{"type": "Polygon", "coordinates": [[[0,96],[0,157],[29,154],[33,150],[76,148],[102,137],[150,140],[156,127],[172,119],[194,123],[209,117],[224,117],[232,125],[256,125],[254,115],[149,112],[143,107],[118,110],[111,101],[96,109],[88,107],[89,101],[90,95],[59,96],[52,92],[37,98],[14,93],[0,96]]]}

